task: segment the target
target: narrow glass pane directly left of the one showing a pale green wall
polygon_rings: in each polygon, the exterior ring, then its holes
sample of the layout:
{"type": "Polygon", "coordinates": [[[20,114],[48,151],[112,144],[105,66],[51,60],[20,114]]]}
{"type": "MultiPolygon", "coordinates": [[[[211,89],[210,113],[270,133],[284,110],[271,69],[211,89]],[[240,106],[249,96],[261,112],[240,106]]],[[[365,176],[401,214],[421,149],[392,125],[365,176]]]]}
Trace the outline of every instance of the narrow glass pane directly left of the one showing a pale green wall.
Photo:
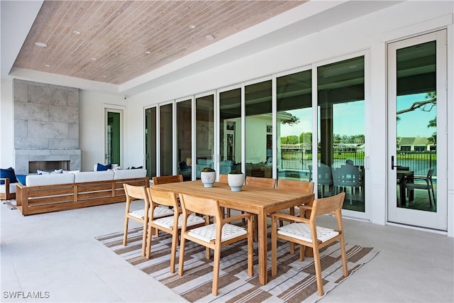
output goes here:
{"type": "Polygon", "coordinates": [[[219,174],[241,170],[241,89],[219,93],[219,174]]]}

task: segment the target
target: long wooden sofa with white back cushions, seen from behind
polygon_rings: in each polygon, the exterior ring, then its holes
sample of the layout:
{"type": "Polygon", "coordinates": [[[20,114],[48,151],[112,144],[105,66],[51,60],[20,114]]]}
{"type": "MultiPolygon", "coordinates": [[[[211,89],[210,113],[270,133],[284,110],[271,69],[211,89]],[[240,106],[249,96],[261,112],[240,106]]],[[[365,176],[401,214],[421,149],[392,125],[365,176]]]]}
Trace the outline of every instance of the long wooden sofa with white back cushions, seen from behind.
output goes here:
{"type": "Polygon", "coordinates": [[[106,170],[28,175],[16,185],[16,204],[23,216],[125,202],[123,183],[150,186],[147,171],[106,170]]]}

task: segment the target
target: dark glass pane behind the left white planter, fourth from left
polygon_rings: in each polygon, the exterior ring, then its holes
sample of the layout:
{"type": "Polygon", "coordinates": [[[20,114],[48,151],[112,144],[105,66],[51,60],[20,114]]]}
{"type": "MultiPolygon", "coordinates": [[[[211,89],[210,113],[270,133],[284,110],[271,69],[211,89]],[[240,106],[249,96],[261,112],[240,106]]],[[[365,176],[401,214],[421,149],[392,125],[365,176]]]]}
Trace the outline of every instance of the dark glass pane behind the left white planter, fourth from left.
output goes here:
{"type": "Polygon", "coordinates": [[[204,167],[214,168],[214,95],[196,98],[196,177],[204,167]]]}

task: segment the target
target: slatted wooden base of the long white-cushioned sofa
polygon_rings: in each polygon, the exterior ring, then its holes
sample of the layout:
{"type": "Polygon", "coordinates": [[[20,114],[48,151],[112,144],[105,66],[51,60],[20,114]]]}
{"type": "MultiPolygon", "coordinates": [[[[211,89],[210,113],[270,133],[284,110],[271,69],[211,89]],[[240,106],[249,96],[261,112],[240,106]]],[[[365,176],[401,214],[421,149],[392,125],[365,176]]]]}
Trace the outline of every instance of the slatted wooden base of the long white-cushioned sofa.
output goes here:
{"type": "Polygon", "coordinates": [[[16,188],[17,208],[23,216],[126,202],[123,183],[150,186],[148,177],[16,188]]]}

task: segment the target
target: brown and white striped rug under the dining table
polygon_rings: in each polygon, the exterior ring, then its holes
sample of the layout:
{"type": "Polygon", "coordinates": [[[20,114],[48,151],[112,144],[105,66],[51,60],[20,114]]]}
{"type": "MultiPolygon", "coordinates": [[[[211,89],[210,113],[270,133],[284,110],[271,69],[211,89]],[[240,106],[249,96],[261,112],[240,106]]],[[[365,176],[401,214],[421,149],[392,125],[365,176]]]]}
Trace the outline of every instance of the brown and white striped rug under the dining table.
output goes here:
{"type": "MultiPolygon", "coordinates": [[[[128,246],[123,246],[123,233],[111,233],[96,237],[98,241],[113,250],[117,255],[142,270],[153,279],[170,288],[189,302],[316,302],[317,294],[313,258],[299,261],[299,250],[289,253],[289,244],[278,241],[278,272],[271,277],[271,245],[268,246],[268,283],[258,281],[258,257],[255,246],[254,276],[247,273],[247,246],[241,241],[223,248],[219,292],[211,294],[213,263],[205,259],[205,248],[187,241],[184,257],[184,275],[178,272],[178,258],[175,274],[171,274],[171,236],[160,233],[152,240],[152,258],[140,256],[142,228],[132,229],[128,235],[128,246]]],[[[371,260],[378,251],[358,245],[347,244],[348,271],[350,275],[371,260]]],[[[177,256],[179,248],[177,248],[177,256]]],[[[342,275],[341,253],[338,243],[326,247],[321,252],[323,270],[323,290],[325,295],[346,278],[342,275]]],[[[350,276],[349,275],[349,276],[350,276]]]]}

